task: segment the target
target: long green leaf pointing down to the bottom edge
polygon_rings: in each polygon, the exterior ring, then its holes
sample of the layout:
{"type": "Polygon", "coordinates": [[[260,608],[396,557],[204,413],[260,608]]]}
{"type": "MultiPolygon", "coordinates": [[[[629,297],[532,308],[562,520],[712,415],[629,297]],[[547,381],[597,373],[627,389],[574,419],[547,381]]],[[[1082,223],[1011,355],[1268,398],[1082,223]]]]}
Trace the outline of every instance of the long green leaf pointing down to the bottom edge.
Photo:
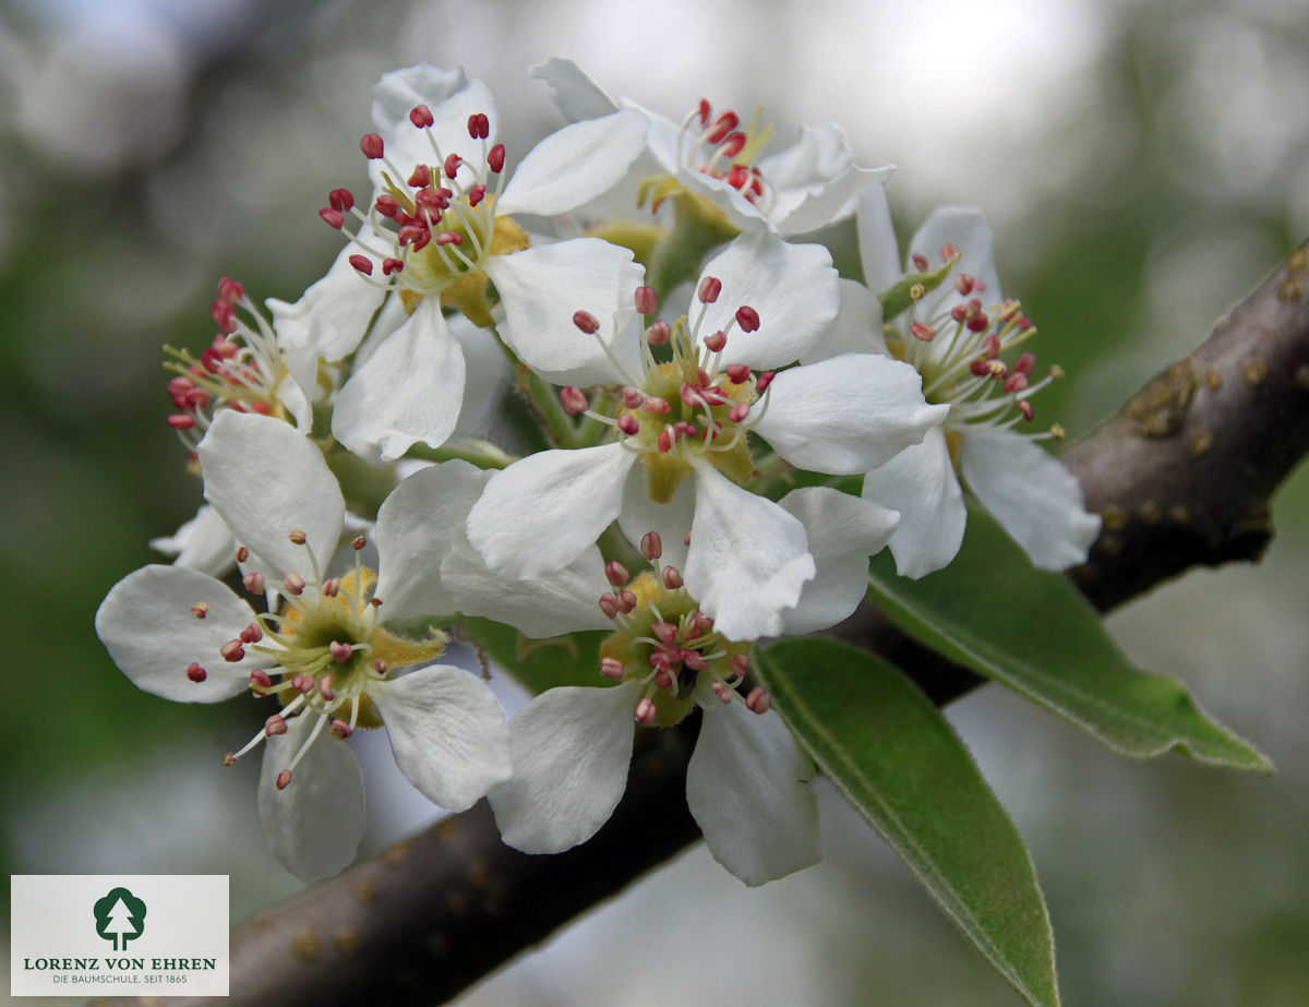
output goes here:
{"type": "Polygon", "coordinates": [[[895,668],[831,640],[757,663],[814,762],[1029,1003],[1059,1003],[1054,936],[1022,838],[941,712],[895,668]]]}

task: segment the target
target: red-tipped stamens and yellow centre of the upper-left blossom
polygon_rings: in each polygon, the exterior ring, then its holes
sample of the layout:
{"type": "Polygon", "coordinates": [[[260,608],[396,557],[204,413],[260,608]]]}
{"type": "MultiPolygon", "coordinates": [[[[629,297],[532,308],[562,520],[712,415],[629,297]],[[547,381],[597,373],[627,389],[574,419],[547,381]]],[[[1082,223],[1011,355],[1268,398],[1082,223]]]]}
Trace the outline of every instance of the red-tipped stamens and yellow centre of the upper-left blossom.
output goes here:
{"type": "Polygon", "coordinates": [[[318,215],[360,249],[350,257],[359,274],[369,283],[398,289],[410,312],[423,297],[436,295],[444,305],[488,326],[488,280],[482,268],[486,257],[528,247],[522,228],[493,211],[504,185],[504,144],[488,148],[490,120],[482,113],[469,117],[469,137],[478,143],[478,156],[471,160],[466,158],[469,151],[461,155],[441,149],[425,105],[410,111],[410,122],[427,136],[432,160],[397,165],[387,157],[382,137],[368,134],[360,149],[384,165],[373,206],[365,215],[355,207],[348,189],[336,189],[318,215]],[[357,227],[353,232],[346,229],[347,213],[368,224],[372,234],[361,236],[357,227]],[[373,276],[378,268],[380,279],[373,276]]]}

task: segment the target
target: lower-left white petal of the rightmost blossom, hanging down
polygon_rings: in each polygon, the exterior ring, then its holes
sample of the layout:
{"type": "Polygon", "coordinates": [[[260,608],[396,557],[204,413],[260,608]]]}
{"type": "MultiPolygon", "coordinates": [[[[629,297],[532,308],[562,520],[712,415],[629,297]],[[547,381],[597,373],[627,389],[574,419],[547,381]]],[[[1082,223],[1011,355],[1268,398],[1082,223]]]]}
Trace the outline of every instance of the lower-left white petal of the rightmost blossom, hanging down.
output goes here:
{"type": "Polygon", "coordinates": [[[901,522],[891,534],[890,547],[901,576],[931,574],[959,551],[967,511],[940,428],[868,473],[864,499],[899,511],[901,522]]]}

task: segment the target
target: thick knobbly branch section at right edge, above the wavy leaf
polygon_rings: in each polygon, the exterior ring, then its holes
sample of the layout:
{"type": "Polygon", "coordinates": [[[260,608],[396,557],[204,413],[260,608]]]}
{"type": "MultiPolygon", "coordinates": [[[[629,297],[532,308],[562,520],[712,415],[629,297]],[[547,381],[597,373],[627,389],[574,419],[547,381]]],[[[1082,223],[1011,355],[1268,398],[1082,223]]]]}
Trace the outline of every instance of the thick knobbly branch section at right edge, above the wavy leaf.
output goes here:
{"type": "Polygon", "coordinates": [[[1196,566],[1258,559],[1268,498],[1309,450],[1309,247],[1063,454],[1105,519],[1071,571],[1101,609],[1196,566]]]}

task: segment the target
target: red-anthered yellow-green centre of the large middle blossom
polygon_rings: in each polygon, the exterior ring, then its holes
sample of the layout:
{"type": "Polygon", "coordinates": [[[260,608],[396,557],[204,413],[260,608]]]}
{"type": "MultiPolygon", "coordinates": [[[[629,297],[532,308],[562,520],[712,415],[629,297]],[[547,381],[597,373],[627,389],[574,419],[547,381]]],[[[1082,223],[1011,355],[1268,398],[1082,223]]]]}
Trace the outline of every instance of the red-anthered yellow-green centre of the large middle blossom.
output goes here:
{"type": "MultiPolygon", "coordinates": [[[[696,291],[700,310],[694,322],[682,316],[672,325],[657,321],[645,329],[641,373],[624,372],[627,385],[601,389],[613,403],[614,415],[592,411],[580,389],[569,386],[560,392],[568,412],[585,412],[611,426],[623,445],[640,454],[651,499],[660,503],[672,499],[700,461],[742,485],[754,471],[746,435],[767,409],[764,393],[772,372],[755,373],[746,364],[723,363],[733,329],[740,326],[751,333],[759,327],[759,314],[749,305],[737,308],[726,329],[702,333],[704,309],[717,300],[721,287],[713,276],[700,280],[696,291]]],[[[637,287],[636,308],[644,316],[653,314],[654,291],[637,287]]],[[[600,327],[586,312],[573,314],[573,323],[588,334],[600,327]]]]}

